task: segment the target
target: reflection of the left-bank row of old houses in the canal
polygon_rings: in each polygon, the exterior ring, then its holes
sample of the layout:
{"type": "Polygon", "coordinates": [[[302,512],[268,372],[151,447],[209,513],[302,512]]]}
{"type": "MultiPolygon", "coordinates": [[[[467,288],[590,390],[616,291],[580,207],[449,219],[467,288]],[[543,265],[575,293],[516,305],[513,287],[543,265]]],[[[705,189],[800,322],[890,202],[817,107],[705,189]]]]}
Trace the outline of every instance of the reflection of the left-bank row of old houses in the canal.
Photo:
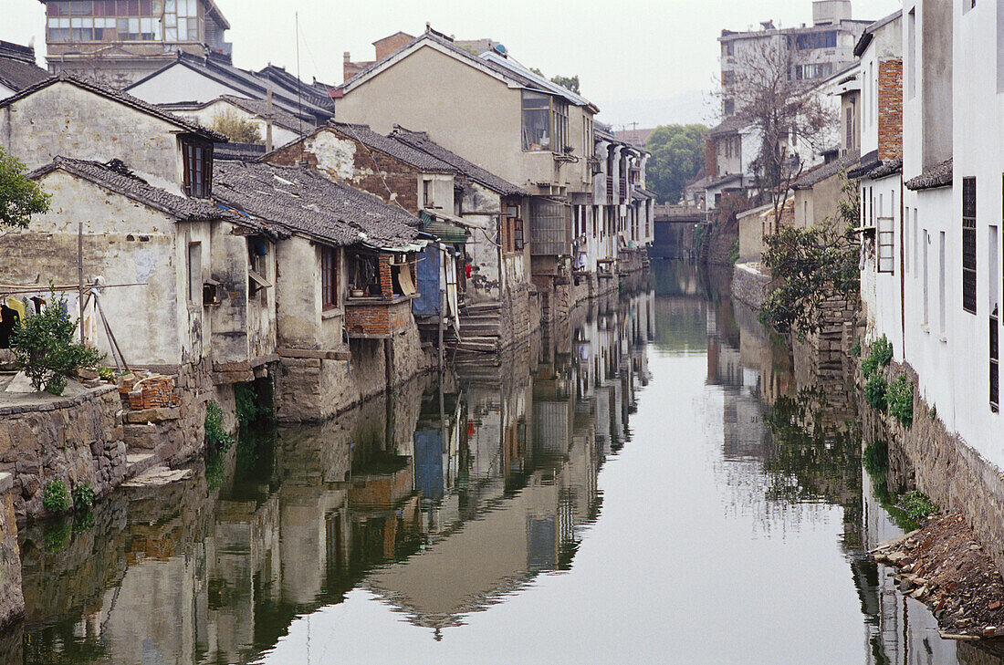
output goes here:
{"type": "Polygon", "coordinates": [[[417,625],[464,622],[568,570],[597,474],[650,380],[650,294],[328,422],[263,428],[190,479],[122,488],[88,524],[22,532],[25,663],[231,663],[362,588],[417,625]],[[462,572],[460,574],[459,572],[462,572]]]}

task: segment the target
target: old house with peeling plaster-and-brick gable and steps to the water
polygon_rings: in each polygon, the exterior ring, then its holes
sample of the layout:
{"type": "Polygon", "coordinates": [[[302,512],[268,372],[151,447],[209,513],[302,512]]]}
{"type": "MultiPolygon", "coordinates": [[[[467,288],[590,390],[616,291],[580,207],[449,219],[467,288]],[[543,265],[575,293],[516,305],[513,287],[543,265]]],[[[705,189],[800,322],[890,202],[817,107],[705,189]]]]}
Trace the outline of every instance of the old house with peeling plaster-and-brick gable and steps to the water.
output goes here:
{"type": "Polygon", "coordinates": [[[384,135],[367,125],[328,122],[264,158],[305,163],[422,217],[423,228],[448,251],[430,248],[420,262],[429,293],[414,304],[417,315],[444,314],[442,289],[445,314],[459,313],[463,338],[494,337],[495,348],[533,329],[520,188],[403,127],[384,135]]]}

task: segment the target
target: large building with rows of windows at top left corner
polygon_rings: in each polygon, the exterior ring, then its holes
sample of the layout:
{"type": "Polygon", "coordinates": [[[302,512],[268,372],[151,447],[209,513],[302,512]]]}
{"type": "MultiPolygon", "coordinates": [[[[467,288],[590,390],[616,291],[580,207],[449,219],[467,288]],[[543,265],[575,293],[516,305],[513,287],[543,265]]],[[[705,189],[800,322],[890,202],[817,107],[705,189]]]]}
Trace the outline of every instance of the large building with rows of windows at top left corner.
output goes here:
{"type": "Polygon", "coordinates": [[[229,55],[230,23],[213,0],[40,0],[49,71],[123,88],[178,51],[229,55]]]}

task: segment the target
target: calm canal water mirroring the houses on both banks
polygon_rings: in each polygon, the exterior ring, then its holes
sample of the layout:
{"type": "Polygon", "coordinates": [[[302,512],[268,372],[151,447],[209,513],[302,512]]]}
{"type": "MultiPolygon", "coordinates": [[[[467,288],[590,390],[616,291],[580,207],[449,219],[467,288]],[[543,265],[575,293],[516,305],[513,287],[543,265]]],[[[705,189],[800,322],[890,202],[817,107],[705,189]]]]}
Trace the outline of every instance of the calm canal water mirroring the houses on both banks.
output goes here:
{"type": "Polygon", "coordinates": [[[12,663],[997,663],[861,551],[853,410],[728,298],[650,291],[190,480],[22,532],[12,663]]]}

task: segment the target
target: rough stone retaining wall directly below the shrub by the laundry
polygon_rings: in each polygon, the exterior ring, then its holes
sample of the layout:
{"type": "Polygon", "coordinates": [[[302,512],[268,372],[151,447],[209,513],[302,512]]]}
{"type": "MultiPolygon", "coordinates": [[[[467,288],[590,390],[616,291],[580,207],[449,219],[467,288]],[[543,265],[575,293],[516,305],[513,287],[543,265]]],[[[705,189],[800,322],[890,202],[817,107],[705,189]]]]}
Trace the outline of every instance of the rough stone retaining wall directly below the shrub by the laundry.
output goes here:
{"type": "Polygon", "coordinates": [[[18,520],[41,516],[49,480],[67,489],[90,482],[102,494],[126,474],[121,401],[114,386],[71,399],[0,409],[0,473],[14,476],[18,520]]]}

